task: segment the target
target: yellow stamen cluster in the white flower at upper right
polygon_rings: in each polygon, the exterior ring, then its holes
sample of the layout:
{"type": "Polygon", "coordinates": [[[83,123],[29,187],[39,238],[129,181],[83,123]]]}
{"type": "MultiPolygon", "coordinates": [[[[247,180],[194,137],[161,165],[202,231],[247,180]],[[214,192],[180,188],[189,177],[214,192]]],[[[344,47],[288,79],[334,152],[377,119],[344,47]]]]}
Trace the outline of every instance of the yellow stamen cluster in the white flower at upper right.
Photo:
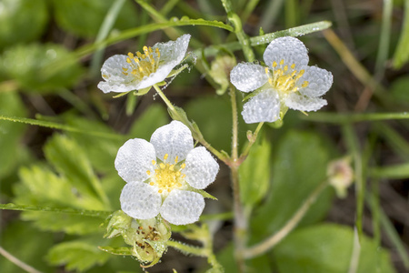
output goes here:
{"type": "MultiPolygon", "coordinates": [[[[284,94],[296,92],[299,89],[297,85],[298,79],[304,75],[304,69],[300,71],[295,70],[295,64],[291,66],[284,66],[284,60],[279,64],[273,62],[273,75],[270,74],[268,67],[265,67],[265,74],[268,76],[268,83],[274,87],[275,90],[281,91],[284,94]],[[279,65],[280,68],[277,68],[279,65]]],[[[304,81],[302,87],[308,86],[308,82],[304,81]]]]}

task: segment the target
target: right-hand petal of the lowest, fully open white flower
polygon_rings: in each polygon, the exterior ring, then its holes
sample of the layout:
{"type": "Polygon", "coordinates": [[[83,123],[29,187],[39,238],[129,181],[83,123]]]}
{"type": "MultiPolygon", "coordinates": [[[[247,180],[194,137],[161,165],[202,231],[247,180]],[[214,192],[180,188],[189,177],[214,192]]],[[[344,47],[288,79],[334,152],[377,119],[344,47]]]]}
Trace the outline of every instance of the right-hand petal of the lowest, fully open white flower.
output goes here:
{"type": "Polygon", "coordinates": [[[219,165],[205,147],[195,147],[187,154],[183,173],[190,186],[203,189],[212,183],[219,165]]]}

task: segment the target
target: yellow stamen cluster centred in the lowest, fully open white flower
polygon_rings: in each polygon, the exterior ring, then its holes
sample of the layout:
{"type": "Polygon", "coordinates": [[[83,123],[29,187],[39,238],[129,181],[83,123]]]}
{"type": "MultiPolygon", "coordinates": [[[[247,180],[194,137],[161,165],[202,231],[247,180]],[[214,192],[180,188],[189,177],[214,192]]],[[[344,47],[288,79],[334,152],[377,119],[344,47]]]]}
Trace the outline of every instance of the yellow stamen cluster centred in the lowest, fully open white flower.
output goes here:
{"type": "MultiPolygon", "coordinates": [[[[185,163],[177,164],[178,157],[175,157],[175,164],[166,163],[166,159],[169,157],[165,154],[163,162],[156,164],[155,160],[152,160],[152,165],[155,166],[155,176],[152,177],[152,181],[149,183],[151,186],[159,188],[158,193],[170,193],[175,187],[182,187],[181,179],[186,175],[181,173],[181,170],[186,167],[185,163]]],[[[151,171],[146,171],[148,176],[151,176],[151,171]]]]}

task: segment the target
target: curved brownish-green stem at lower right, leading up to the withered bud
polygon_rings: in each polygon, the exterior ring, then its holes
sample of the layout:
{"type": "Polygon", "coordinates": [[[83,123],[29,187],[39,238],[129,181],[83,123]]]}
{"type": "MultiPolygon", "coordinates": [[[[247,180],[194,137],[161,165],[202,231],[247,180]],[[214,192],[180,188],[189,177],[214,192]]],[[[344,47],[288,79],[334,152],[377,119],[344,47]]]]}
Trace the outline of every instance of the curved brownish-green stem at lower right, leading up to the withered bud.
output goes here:
{"type": "Polygon", "coordinates": [[[298,223],[303,219],[304,215],[307,213],[308,209],[314,204],[316,198],[321,194],[324,188],[328,186],[328,181],[325,180],[323,183],[318,185],[309,197],[304,201],[303,205],[298,208],[288,222],[278,230],[270,238],[266,238],[263,242],[255,245],[254,247],[247,248],[244,251],[244,258],[254,258],[260,256],[274,248],[283,238],[285,238],[293,229],[298,225],[298,223]]]}

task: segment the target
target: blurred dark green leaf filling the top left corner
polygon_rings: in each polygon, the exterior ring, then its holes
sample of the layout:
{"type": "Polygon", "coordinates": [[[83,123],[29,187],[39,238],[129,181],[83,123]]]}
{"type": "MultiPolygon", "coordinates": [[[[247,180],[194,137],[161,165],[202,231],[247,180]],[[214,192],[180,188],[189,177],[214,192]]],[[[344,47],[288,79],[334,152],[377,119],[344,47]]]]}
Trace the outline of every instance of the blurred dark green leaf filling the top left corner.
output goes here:
{"type": "Polygon", "coordinates": [[[45,0],[2,0],[0,48],[35,40],[43,33],[47,21],[45,0]]]}

